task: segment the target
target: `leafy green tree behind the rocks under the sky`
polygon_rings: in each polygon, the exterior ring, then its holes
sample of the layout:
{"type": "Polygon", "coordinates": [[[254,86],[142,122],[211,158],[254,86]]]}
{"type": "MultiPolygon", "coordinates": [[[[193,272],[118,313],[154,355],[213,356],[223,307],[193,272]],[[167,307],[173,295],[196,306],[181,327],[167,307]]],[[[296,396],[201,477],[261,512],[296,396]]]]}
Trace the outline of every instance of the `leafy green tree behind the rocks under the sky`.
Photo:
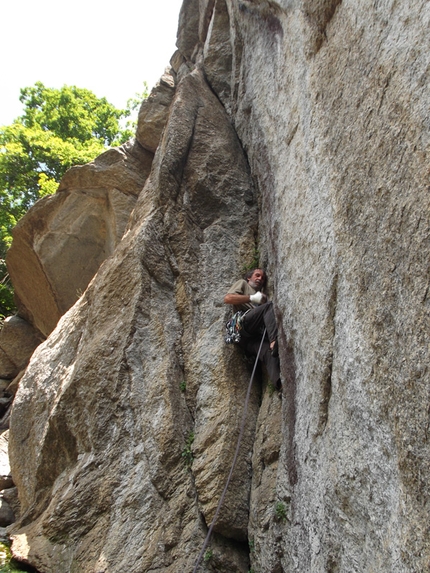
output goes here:
{"type": "MultiPolygon", "coordinates": [[[[147,96],[144,88],[141,95],[147,96]]],[[[21,89],[19,99],[23,115],[0,127],[0,316],[13,310],[4,263],[12,228],[37,199],[55,193],[67,169],[132,137],[132,123],[123,128],[121,121],[137,105],[132,99],[127,109],[116,109],[89,90],[41,82],[21,89]]]]}

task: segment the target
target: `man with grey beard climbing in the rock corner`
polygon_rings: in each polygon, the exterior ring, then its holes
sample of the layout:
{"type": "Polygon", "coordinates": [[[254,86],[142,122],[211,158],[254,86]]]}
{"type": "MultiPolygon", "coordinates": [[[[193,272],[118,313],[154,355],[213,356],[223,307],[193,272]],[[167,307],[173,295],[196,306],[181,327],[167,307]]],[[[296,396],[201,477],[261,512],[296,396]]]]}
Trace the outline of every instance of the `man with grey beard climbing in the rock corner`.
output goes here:
{"type": "Polygon", "coordinates": [[[253,269],[245,279],[235,282],[224,297],[224,304],[233,305],[233,311],[243,311],[241,317],[239,346],[247,354],[257,356],[261,337],[266,336],[260,352],[260,360],[266,366],[269,378],[277,390],[282,390],[278,354],[278,328],[273,305],[263,290],[267,283],[263,269],[253,269]]]}

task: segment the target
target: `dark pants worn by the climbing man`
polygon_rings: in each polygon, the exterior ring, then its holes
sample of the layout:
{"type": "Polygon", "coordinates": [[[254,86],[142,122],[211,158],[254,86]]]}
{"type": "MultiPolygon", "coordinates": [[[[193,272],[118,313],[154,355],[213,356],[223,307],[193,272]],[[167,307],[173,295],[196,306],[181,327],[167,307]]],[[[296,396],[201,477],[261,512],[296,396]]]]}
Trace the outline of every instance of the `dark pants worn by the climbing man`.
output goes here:
{"type": "Polygon", "coordinates": [[[281,372],[279,367],[279,357],[274,358],[270,352],[270,342],[276,340],[278,336],[275,313],[273,312],[273,305],[271,302],[260,304],[260,306],[249,310],[245,314],[243,318],[244,330],[242,330],[242,337],[239,345],[247,354],[257,356],[265,328],[266,334],[261,347],[259,360],[261,360],[265,365],[270,380],[276,386],[280,379],[281,372]]]}

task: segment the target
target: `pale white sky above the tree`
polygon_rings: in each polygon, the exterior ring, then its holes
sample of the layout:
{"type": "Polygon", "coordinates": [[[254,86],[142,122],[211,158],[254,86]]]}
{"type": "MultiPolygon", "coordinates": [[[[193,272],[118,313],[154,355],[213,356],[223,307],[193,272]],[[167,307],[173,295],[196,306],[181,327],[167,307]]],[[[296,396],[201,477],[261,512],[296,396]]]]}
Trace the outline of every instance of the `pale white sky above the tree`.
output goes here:
{"type": "Polygon", "coordinates": [[[0,6],[0,125],[20,88],[75,85],[115,107],[152,88],[176,50],[182,0],[5,0],[0,6]]]}

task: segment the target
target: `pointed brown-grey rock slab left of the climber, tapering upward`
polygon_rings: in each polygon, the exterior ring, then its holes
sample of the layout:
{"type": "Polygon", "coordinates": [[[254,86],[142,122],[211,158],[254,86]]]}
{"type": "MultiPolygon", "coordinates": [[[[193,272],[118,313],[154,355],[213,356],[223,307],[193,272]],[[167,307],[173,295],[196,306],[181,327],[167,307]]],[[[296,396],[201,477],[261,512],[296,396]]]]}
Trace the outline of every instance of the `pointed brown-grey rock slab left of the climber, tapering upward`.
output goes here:
{"type": "MultiPolygon", "coordinates": [[[[252,259],[256,224],[241,146],[196,70],[177,88],[123,240],[20,381],[10,457],[21,559],[58,573],[193,567],[246,393],[248,365],[222,337],[222,296],[252,259]]],[[[248,570],[257,408],[256,386],[216,526],[221,570],[248,570]]]]}

